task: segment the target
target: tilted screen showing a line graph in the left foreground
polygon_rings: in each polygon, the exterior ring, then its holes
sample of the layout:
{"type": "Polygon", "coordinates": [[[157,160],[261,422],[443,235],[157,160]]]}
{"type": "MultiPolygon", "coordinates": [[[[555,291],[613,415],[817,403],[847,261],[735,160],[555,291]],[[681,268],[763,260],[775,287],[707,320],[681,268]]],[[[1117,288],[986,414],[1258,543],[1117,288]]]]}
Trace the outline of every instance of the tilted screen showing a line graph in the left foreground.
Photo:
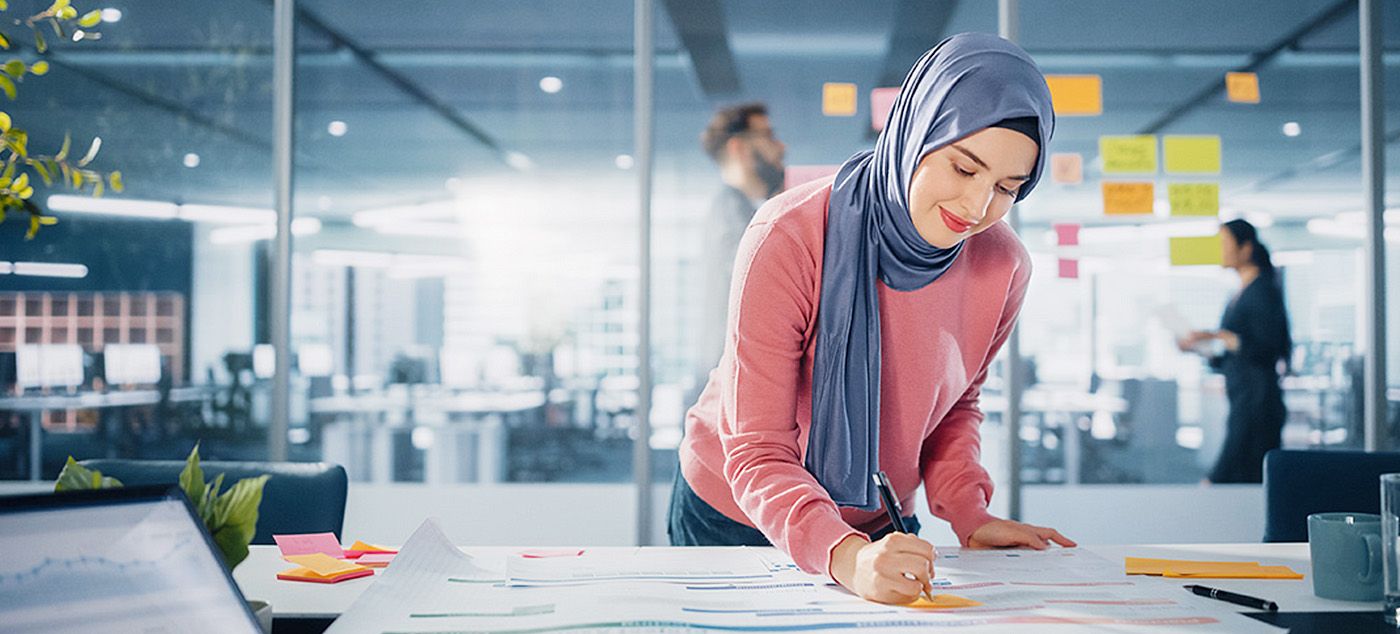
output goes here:
{"type": "Polygon", "coordinates": [[[0,630],[260,628],[176,487],[0,497],[0,630]]]}

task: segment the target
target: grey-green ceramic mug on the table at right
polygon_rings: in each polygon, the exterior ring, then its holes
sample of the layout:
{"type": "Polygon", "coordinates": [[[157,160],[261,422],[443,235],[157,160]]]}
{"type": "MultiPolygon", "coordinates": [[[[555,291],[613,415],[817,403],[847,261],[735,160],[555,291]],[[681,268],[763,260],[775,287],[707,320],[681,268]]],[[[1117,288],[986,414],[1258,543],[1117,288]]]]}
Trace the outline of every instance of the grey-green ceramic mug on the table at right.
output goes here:
{"type": "Polygon", "coordinates": [[[1308,516],[1313,593],[1323,599],[1380,600],[1380,515],[1308,516]]]}

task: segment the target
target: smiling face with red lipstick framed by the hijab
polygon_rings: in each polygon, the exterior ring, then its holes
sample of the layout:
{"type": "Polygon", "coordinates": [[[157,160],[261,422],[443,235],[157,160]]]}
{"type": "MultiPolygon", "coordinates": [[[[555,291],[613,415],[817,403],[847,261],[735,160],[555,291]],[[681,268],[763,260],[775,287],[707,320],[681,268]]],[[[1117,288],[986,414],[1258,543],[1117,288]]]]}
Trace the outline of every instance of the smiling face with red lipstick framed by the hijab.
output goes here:
{"type": "Polygon", "coordinates": [[[924,155],[909,183],[918,235],[948,249],[1001,221],[1030,178],[1039,147],[1005,127],[987,127],[924,155]]]}

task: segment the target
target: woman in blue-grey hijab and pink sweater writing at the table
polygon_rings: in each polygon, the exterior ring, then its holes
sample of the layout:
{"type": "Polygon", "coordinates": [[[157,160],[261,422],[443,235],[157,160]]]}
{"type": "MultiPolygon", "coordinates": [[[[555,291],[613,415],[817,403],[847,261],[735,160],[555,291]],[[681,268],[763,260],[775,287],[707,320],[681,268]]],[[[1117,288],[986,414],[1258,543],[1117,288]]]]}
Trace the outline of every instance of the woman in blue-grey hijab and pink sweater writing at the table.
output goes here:
{"type": "Polygon", "coordinates": [[[935,554],[892,533],[871,479],[885,470],[902,507],[924,484],[965,546],[1074,546],[991,516],[979,463],[980,388],[1030,277],[1001,218],[1040,178],[1053,129],[1022,49],[956,35],[910,70],[874,151],[759,209],[724,354],[686,414],[672,544],[771,543],[907,603],[935,554]]]}

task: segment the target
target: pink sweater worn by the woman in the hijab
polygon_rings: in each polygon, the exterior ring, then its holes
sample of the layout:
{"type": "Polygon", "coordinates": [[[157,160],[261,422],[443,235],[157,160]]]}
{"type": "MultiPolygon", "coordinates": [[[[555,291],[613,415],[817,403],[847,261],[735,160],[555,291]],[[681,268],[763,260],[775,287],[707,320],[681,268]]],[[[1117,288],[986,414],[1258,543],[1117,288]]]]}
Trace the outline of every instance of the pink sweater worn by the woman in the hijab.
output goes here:
{"type": "MultiPolygon", "coordinates": [[[[832,179],[764,204],[745,232],[724,355],[686,414],[680,469],[696,494],[755,526],[802,570],[830,575],[832,549],[886,523],[839,508],[802,467],[812,424],[812,354],[832,179]]],[[[987,365],[1015,325],[1030,259],[1005,224],[967,239],[917,291],[878,286],[879,465],[906,509],[923,483],[934,515],[967,537],[993,519],[979,463],[987,365]]]]}

